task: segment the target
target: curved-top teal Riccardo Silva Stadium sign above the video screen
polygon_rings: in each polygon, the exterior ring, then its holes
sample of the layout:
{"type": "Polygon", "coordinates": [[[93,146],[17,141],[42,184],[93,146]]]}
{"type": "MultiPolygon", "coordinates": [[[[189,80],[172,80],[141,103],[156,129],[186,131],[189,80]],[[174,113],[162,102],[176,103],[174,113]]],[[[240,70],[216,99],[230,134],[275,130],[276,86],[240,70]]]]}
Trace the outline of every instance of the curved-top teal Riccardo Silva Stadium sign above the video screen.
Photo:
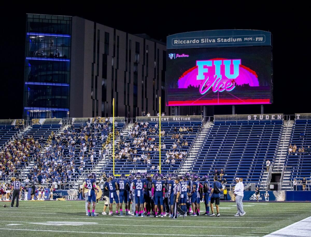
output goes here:
{"type": "Polygon", "coordinates": [[[271,46],[271,33],[258,30],[210,30],[167,36],[167,49],[271,46]]]}

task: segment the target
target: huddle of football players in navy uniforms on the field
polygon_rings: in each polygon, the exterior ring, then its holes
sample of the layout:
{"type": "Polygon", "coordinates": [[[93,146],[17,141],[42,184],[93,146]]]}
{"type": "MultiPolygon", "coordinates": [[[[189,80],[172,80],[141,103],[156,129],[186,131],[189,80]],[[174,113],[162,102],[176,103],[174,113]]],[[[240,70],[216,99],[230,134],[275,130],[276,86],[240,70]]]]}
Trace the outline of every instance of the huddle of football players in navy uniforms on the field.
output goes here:
{"type": "MultiPolygon", "coordinates": [[[[148,173],[131,174],[126,178],[124,174],[119,179],[109,175],[104,188],[109,191],[109,215],[123,215],[123,203],[125,215],[170,216],[176,219],[178,216],[185,218],[187,215],[200,215],[200,202],[204,200],[205,213],[203,215],[215,216],[213,203],[216,204],[217,215],[219,214],[220,191],[222,187],[214,177],[212,188],[208,176],[199,177],[186,173],[183,177],[175,174],[155,174],[151,177],[148,173]],[[119,191],[119,195],[117,194],[119,191]],[[210,198],[211,197],[211,198],[210,198]],[[209,212],[209,200],[211,200],[211,214],[209,212]],[[113,214],[112,204],[116,203],[116,210],[113,214]],[[132,208],[130,203],[132,202],[132,208]]],[[[87,198],[87,215],[96,216],[96,186],[95,174],[90,174],[83,184],[83,195],[87,198]],[[91,211],[92,202],[92,211],[91,211]]],[[[106,198],[104,198],[105,200],[106,198]]],[[[108,206],[105,200],[105,206],[108,206]]],[[[104,208],[105,210],[105,208],[104,208]]],[[[103,212],[103,214],[106,214],[103,212]]]]}

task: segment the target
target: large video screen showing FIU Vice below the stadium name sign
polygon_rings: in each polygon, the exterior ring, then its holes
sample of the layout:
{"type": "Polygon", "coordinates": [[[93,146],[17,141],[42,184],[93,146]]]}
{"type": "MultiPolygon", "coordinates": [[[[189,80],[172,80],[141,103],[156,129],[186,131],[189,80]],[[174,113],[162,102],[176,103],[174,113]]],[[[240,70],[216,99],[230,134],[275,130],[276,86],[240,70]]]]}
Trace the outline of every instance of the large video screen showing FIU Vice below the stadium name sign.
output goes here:
{"type": "Polygon", "coordinates": [[[167,51],[166,105],[272,104],[271,46],[167,51]]]}

